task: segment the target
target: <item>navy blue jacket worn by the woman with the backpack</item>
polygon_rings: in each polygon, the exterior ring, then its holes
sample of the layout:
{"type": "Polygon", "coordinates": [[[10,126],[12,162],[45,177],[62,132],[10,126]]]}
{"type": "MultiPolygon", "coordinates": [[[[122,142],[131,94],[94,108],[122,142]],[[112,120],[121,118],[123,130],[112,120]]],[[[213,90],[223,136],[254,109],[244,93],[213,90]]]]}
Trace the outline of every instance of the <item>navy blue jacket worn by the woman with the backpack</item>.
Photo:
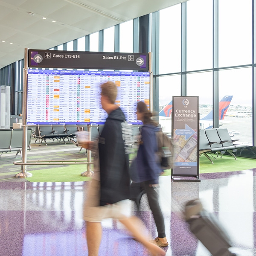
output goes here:
{"type": "Polygon", "coordinates": [[[148,180],[151,184],[159,183],[159,175],[163,172],[157,156],[156,131],[159,127],[151,124],[141,128],[141,142],[137,154],[137,168],[140,180],[148,180]]]}

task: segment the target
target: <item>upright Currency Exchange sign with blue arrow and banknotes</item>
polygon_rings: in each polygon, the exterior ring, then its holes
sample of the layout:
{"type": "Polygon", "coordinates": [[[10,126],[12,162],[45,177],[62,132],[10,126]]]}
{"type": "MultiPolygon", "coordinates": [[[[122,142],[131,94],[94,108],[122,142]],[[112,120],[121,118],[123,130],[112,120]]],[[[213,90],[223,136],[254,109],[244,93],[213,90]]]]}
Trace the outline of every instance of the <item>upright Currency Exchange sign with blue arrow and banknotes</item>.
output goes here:
{"type": "Polygon", "coordinates": [[[172,97],[173,175],[199,175],[198,97],[172,97]]]}

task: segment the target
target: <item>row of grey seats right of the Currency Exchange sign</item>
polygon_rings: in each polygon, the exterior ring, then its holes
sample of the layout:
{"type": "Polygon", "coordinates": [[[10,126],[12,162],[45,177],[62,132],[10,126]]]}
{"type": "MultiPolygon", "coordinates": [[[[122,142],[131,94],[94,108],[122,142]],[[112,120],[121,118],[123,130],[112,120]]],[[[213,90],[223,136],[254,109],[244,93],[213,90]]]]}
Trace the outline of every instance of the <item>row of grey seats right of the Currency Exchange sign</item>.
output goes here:
{"type": "Polygon", "coordinates": [[[228,133],[227,128],[213,128],[200,130],[199,139],[199,157],[204,154],[213,164],[209,157],[210,152],[214,152],[222,155],[227,151],[231,154],[235,160],[236,156],[233,152],[237,151],[237,148],[244,148],[246,145],[234,144],[238,140],[232,140],[228,133]]]}

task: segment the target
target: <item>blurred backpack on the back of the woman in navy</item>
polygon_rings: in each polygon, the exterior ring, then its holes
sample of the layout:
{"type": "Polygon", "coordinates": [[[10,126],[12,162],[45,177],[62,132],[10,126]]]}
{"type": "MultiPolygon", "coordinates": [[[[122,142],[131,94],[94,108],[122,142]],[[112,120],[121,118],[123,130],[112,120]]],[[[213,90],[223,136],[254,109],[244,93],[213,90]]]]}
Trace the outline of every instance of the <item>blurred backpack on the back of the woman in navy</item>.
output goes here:
{"type": "Polygon", "coordinates": [[[157,136],[157,155],[159,156],[159,161],[161,168],[171,169],[172,168],[172,155],[173,155],[173,143],[172,139],[167,137],[166,134],[163,133],[160,128],[159,131],[156,132],[157,136]]]}

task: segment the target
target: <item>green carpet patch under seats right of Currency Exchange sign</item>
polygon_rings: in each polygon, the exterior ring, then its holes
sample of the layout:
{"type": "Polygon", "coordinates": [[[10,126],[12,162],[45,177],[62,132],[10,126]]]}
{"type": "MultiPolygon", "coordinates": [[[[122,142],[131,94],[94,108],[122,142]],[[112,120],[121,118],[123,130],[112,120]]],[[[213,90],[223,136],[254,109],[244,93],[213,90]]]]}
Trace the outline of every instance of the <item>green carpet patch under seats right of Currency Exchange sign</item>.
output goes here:
{"type": "MultiPolygon", "coordinates": [[[[214,155],[215,156],[215,155],[214,155]]],[[[256,160],[250,158],[237,157],[235,160],[234,157],[223,155],[222,158],[211,157],[212,164],[207,157],[201,155],[199,161],[199,173],[210,173],[210,172],[234,172],[234,171],[243,171],[252,168],[256,168],[256,160]]]]}

